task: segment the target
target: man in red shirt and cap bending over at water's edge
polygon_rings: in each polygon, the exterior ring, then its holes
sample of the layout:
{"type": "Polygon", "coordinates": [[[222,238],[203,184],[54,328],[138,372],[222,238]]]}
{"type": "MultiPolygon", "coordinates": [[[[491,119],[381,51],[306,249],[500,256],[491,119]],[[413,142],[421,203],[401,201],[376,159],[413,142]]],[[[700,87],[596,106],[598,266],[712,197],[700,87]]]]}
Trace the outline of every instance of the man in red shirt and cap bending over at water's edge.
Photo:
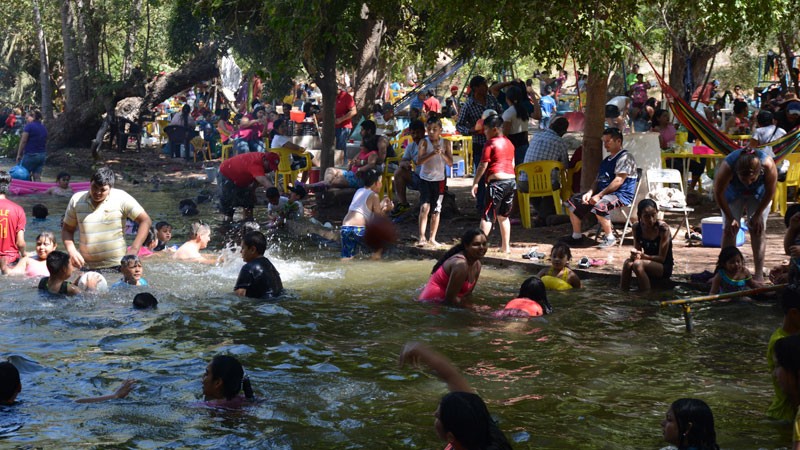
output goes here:
{"type": "Polygon", "coordinates": [[[219,166],[219,208],[226,220],[233,220],[233,210],[237,206],[244,208],[244,220],[253,219],[256,188],[258,185],[265,189],[272,187],[267,173],[278,169],[279,160],[275,153],[251,152],[228,158],[219,166]]]}

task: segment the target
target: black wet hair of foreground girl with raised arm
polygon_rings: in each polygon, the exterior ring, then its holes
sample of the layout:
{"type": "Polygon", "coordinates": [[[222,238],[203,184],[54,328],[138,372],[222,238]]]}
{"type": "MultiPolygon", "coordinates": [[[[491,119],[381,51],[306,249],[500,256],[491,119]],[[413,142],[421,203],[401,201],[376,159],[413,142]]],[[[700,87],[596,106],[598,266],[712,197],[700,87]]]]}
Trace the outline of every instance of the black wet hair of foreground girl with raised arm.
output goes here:
{"type": "Polygon", "coordinates": [[[466,449],[510,449],[486,403],[471,392],[451,392],[439,403],[439,422],[466,449]]]}

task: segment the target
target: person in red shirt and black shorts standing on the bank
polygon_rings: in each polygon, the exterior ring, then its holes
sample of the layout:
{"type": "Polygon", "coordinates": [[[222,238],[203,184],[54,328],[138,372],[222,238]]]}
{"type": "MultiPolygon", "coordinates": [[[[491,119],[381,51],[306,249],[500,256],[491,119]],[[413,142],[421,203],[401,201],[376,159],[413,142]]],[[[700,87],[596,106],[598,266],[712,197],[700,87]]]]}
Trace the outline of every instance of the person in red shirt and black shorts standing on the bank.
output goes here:
{"type": "Polygon", "coordinates": [[[514,204],[517,190],[514,174],[514,144],[503,136],[503,118],[494,110],[483,115],[483,133],[486,144],[475,178],[472,182],[472,196],[478,193],[478,183],[486,174],[486,207],[481,218],[481,231],[487,237],[492,231],[492,223],[497,219],[500,227],[500,251],[511,253],[511,222],[508,213],[514,204]]]}

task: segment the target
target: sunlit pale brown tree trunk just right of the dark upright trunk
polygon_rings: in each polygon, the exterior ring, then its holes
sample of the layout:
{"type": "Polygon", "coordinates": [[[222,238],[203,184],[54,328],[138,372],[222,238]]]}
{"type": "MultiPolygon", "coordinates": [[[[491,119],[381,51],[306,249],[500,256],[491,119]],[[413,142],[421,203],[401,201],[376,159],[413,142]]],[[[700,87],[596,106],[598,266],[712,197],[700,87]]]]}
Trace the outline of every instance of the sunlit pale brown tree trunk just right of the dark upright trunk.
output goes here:
{"type": "MultiPolygon", "coordinates": [[[[366,6],[365,6],[366,8],[366,6]]],[[[355,101],[360,115],[369,117],[372,105],[375,104],[378,88],[381,84],[378,62],[380,59],[381,41],[386,32],[383,20],[372,14],[367,15],[361,23],[361,39],[356,61],[355,101]]]]}

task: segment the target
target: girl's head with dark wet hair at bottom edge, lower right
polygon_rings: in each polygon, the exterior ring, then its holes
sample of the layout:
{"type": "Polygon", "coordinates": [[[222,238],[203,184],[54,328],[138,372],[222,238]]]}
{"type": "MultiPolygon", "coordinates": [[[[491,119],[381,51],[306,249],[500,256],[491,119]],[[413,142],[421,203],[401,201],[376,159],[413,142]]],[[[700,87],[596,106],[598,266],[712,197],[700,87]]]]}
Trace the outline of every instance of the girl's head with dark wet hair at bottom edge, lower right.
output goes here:
{"type": "Polygon", "coordinates": [[[661,422],[664,440],[678,450],[719,450],[714,414],[696,398],[675,400],[661,422]]]}

